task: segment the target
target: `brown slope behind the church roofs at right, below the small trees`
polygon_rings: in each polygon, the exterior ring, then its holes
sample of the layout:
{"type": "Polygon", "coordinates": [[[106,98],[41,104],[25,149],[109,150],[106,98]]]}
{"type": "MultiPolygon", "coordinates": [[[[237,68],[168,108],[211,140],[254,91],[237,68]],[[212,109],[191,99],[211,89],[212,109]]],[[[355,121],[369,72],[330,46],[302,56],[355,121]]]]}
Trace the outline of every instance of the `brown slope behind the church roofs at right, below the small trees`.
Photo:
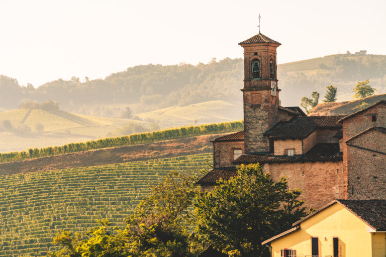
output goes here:
{"type": "Polygon", "coordinates": [[[319,103],[308,115],[348,115],[380,100],[386,100],[386,94],[372,95],[351,101],[319,103]]]}

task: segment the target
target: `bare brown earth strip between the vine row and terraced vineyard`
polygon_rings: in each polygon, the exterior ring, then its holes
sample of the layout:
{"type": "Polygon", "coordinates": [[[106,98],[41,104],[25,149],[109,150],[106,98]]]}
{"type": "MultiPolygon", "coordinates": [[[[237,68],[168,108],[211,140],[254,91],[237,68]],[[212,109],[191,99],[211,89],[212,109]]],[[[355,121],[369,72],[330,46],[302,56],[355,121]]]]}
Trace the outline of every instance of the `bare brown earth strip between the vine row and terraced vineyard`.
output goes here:
{"type": "Polygon", "coordinates": [[[210,141],[227,134],[229,133],[0,163],[0,175],[211,153],[212,143],[210,141]]]}

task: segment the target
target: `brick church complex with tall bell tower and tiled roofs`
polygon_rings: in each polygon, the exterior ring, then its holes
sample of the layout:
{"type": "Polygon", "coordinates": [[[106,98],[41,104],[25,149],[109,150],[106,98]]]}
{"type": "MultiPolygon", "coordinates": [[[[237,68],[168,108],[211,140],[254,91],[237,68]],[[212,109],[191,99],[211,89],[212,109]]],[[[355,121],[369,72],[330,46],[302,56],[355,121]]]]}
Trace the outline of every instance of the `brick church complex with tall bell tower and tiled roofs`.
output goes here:
{"type": "MultiPolygon", "coordinates": [[[[279,105],[276,48],[258,34],[244,48],[244,131],[213,141],[213,170],[203,190],[236,175],[239,164],[260,163],[274,179],[300,188],[309,207],[335,199],[386,198],[386,101],[347,116],[307,116],[279,105]]],[[[290,89],[287,89],[290,90],[290,89]]]]}

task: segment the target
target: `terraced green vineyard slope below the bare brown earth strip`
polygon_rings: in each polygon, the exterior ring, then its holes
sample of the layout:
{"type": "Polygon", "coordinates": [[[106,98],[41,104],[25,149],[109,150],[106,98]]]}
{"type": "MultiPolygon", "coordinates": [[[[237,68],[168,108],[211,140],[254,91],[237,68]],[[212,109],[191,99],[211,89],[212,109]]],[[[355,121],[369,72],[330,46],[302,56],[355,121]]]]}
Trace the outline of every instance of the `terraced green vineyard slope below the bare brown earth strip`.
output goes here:
{"type": "Polygon", "coordinates": [[[83,232],[125,218],[171,170],[198,175],[212,154],[0,176],[0,256],[44,255],[60,229],[83,232]]]}

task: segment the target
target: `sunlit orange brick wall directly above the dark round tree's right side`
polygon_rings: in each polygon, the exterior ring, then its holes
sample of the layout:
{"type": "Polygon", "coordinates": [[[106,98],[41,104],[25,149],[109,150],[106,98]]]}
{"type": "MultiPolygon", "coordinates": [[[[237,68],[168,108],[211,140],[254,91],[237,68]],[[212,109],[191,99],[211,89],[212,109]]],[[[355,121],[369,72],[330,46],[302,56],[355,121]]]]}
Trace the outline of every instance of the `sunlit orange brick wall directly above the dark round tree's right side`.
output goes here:
{"type": "Polygon", "coordinates": [[[284,176],[289,188],[301,189],[307,207],[320,208],[344,197],[342,162],[265,164],[263,171],[276,181],[284,176]]]}

